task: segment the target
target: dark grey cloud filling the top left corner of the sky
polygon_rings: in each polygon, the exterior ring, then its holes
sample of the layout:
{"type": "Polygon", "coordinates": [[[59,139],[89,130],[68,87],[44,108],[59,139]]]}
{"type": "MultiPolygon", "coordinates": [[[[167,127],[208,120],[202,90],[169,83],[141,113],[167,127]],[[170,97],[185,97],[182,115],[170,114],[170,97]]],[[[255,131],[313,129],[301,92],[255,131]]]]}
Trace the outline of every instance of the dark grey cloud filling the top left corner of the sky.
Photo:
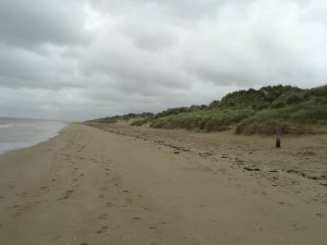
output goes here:
{"type": "Polygon", "coordinates": [[[86,44],[83,11],[75,1],[1,0],[0,41],[8,46],[86,44]]]}

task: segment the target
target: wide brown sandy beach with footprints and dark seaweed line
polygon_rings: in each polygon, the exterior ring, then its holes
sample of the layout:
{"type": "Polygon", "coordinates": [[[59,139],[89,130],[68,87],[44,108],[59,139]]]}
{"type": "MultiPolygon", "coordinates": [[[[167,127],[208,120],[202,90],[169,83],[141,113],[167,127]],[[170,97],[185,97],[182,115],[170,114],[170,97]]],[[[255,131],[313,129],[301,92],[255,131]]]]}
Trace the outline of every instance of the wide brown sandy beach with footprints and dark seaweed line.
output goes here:
{"type": "Polygon", "coordinates": [[[95,126],[0,156],[1,245],[326,244],[326,135],[95,126]]]}

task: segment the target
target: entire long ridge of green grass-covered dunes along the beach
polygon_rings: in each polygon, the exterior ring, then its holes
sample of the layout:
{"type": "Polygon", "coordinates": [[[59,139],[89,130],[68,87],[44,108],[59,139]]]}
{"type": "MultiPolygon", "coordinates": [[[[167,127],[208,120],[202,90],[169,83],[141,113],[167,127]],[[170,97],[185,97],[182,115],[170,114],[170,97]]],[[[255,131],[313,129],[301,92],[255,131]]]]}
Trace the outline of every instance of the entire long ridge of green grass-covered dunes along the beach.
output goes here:
{"type": "Polygon", "coordinates": [[[327,85],[312,89],[292,86],[267,86],[258,90],[239,90],[208,106],[170,108],[157,114],[125,114],[93,120],[98,123],[132,121],[131,125],[149,123],[157,128],[225,131],[237,133],[275,133],[282,125],[284,133],[301,133],[327,126],[327,85]]]}

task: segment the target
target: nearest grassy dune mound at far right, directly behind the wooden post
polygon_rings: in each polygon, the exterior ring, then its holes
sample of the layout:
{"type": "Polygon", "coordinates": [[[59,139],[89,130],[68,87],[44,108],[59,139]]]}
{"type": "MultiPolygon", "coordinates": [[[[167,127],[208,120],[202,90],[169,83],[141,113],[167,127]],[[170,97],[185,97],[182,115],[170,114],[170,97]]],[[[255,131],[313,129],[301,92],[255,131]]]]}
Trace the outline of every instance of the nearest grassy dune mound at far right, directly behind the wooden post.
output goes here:
{"type": "Polygon", "coordinates": [[[277,124],[284,133],[311,131],[327,125],[327,86],[286,93],[270,108],[257,111],[238,124],[238,133],[275,133],[277,124]]]}

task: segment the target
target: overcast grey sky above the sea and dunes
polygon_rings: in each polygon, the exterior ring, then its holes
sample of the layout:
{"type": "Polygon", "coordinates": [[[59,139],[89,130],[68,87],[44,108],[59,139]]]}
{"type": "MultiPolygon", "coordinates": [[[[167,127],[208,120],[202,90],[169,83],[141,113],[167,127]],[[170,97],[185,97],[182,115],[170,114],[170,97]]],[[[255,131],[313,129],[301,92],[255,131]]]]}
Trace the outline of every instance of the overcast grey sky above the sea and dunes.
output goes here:
{"type": "Polygon", "coordinates": [[[0,115],[86,120],[327,84],[326,0],[0,0],[0,115]]]}

